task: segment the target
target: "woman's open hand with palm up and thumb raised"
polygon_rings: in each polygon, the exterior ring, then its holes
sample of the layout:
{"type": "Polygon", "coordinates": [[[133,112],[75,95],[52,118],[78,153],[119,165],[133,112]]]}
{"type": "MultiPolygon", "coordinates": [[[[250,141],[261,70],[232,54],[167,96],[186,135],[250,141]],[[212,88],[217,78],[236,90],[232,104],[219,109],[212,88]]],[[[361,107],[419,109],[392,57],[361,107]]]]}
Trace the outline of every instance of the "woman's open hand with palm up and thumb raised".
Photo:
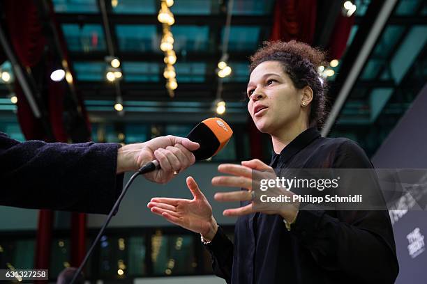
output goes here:
{"type": "Polygon", "coordinates": [[[192,200],[155,197],[151,198],[147,207],[151,212],[163,216],[171,223],[200,233],[210,242],[218,230],[218,225],[212,216],[212,207],[193,178],[188,177],[186,182],[193,194],[192,200]]]}

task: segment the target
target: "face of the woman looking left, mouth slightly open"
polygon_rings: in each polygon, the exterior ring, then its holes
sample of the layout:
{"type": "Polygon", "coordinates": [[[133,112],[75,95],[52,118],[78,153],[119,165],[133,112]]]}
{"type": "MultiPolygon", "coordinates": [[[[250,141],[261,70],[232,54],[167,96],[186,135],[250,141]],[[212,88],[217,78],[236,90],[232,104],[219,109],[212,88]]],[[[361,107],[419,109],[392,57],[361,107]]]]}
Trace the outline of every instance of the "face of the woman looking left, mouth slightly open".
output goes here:
{"type": "Polygon", "coordinates": [[[278,61],[264,61],[250,74],[248,111],[260,132],[278,135],[305,114],[301,91],[278,61]]]}

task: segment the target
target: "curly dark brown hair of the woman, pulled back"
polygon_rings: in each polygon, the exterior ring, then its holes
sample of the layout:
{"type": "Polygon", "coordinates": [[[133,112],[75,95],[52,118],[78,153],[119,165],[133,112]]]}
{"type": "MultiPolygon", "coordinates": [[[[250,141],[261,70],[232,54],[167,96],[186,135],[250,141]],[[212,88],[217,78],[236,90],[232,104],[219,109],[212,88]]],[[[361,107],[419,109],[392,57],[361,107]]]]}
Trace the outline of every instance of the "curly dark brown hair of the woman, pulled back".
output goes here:
{"type": "Polygon", "coordinates": [[[264,42],[263,47],[250,56],[249,71],[252,73],[257,65],[264,61],[280,62],[295,88],[309,86],[313,90],[308,121],[310,127],[320,128],[327,116],[327,88],[326,81],[319,77],[317,68],[327,64],[325,57],[326,54],[320,49],[310,47],[304,42],[295,40],[264,42]]]}

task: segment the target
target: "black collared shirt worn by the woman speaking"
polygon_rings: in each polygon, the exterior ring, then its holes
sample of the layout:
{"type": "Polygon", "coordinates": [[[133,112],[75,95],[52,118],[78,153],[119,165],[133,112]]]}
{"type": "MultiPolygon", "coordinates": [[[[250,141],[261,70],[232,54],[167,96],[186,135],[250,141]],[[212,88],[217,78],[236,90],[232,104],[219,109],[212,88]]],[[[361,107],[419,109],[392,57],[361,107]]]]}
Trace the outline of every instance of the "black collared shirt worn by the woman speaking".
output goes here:
{"type": "MultiPolygon", "coordinates": [[[[314,128],[274,154],[270,165],[373,167],[353,141],[322,138],[314,128]]],[[[234,245],[220,228],[206,245],[215,274],[227,283],[386,284],[394,283],[398,274],[387,211],[300,210],[290,231],[281,216],[248,214],[239,217],[234,233],[234,245]]]]}

